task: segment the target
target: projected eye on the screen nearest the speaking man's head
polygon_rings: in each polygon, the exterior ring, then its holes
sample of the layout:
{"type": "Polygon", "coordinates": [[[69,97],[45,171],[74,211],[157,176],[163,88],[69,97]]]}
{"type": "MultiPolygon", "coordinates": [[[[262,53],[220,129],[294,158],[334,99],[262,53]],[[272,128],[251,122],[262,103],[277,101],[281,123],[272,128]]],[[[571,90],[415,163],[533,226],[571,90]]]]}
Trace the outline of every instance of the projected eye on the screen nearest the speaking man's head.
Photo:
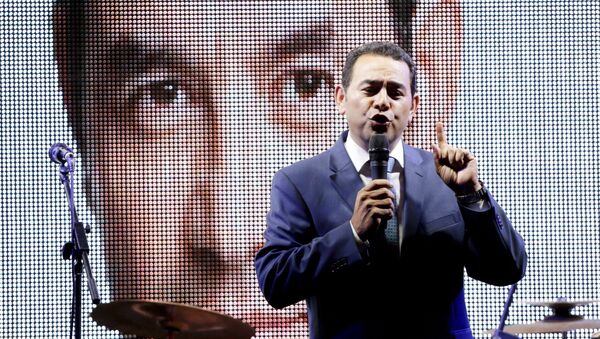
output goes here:
{"type": "MultiPolygon", "coordinates": [[[[318,70],[299,70],[292,73],[284,85],[286,96],[294,95],[306,101],[319,94],[319,90],[331,87],[332,79],[327,74],[318,70]]],[[[290,99],[292,99],[290,97],[290,99]]]]}

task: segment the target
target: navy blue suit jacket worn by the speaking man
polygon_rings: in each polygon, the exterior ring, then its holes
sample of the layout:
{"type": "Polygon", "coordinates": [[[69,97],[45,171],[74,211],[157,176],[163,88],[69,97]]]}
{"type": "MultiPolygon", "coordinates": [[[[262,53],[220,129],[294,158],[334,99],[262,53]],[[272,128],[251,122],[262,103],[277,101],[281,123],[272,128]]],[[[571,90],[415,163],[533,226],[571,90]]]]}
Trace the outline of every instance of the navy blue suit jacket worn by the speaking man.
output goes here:
{"type": "Polygon", "coordinates": [[[265,245],[255,259],[267,301],[306,300],[311,338],[472,338],[463,274],[494,284],[525,274],[523,240],[489,195],[491,208],[459,206],[431,153],[404,147],[401,254],[361,251],[350,219],[363,182],[345,148],[273,177],[265,245]]]}

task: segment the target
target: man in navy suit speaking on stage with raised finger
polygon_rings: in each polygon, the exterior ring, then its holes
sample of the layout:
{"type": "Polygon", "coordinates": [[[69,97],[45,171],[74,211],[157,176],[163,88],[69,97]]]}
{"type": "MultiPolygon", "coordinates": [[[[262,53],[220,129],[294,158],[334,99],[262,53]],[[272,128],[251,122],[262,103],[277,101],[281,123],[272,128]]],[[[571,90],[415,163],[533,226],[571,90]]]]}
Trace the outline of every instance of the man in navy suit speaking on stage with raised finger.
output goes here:
{"type": "Polygon", "coordinates": [[[463,271],[517,282],[521,237],[441,123],[433,154],[403,143],[420,100],[404,50],[375,42],[350,52],[335,97],[349,131],[273,178],[255,259],[263,294],[276,308],[306,300],[312,338],[472,338],[463,271]],[[389,180],[361,171],[374,133],[400,165],[389,180]]]}

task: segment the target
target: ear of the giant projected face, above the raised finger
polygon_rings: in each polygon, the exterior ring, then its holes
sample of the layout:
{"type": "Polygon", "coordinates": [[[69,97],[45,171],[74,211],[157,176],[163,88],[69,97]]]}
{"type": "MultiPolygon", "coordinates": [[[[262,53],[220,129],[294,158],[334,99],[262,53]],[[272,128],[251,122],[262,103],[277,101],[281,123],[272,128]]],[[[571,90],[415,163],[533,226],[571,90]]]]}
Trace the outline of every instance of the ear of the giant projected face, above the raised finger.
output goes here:
{"type": "MultiPolygon", "coordinates": [[[[430,121],[449,125],[456,105],[461,74],[463,22],[459,0],[423,1],[417,5],[414,18],[413,48],[419,76],[427,85],[427,118],[413,120],[412,138],[422,140],[426,147],[435,138],[430,121]],[[419,122],[427,125],[419,126],[419,122]],[[425,139],[425,140],[424,140],[425,139]]],[[[420,142],[419,142],[420,144],[420,142]]]]}

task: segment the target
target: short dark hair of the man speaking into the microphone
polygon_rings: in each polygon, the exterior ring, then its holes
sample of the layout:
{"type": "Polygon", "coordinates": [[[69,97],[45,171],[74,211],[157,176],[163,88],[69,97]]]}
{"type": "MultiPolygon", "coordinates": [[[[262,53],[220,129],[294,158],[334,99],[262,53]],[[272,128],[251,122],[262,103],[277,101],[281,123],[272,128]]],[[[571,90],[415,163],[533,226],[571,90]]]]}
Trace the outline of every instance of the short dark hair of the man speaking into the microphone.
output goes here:
{"type": "Polygon", "coordinates": [[[344,63],[344,69],[342,70],[342,86],[344,87],[344,90],[348,89],[348,86],[350,86],[350,82],[352,81],[352,71],[354,70],[356,60],[363,55],[379,55],[406,63],[410,71],[411,95],[415,95],[417,92],[417,71],[415,69],[415,63],[410,55],[400,46],[395,43],[383,41],[366,43],[348,53],[346,62],[344,63]]]}

